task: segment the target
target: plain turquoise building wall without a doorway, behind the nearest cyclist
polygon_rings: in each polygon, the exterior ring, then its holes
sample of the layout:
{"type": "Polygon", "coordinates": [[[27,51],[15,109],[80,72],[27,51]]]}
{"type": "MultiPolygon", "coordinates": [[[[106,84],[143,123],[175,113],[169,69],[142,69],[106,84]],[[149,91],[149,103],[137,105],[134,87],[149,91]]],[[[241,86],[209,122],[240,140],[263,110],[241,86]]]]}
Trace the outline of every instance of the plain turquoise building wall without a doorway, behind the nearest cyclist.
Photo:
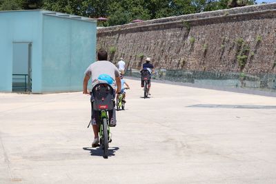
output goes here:
{"type": "Polygon", "coordinates": [[[96,23],[43,15],[43,92],[79,91],[95,61],[96,23]]]}

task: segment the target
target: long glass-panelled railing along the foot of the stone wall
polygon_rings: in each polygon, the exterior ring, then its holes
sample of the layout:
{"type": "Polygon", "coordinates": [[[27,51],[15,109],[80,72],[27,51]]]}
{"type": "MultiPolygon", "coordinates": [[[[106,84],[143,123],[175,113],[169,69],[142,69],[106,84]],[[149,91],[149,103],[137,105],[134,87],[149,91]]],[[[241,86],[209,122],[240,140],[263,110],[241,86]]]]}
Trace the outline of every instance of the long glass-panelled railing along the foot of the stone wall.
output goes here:
{"type": "MultiPolygon", "coordinates": [[[[139,70],[130,69],[126,76],[140,78],[139,70]]],[[[243,88],[276,92],[276,74],[246,74],[243,72],[208,72],[189,70],[156,69],[151,79],[194,83],[197,85],[217,86],[221,88],[243,88]]]]}

